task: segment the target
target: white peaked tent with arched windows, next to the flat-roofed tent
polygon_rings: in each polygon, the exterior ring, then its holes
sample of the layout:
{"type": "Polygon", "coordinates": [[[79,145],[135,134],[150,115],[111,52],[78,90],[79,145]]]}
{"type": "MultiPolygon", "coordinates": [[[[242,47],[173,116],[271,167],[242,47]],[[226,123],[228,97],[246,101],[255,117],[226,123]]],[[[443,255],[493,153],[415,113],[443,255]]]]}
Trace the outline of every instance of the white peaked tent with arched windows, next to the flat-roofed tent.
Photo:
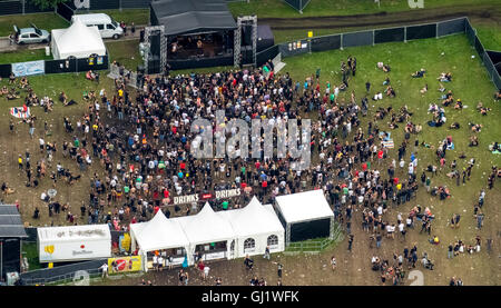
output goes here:
{"type": "Polygon", "coordinates": [[[263,255],[285,249],[285,230],[271,205],[263,206],[256,197],[242,209],[218,212],[229,221],[237,237],[234,258],[263,255]]]}

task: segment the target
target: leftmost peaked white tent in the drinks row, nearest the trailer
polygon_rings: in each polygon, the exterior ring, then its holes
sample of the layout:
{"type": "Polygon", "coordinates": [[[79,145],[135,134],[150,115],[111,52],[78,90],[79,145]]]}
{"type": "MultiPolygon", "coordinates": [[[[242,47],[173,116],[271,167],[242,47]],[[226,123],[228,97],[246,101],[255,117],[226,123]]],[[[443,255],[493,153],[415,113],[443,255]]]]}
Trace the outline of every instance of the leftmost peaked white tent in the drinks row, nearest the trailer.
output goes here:
{"type": "Polygon", "coordinates": [[[143,256],[143,268],[148,270],[148,252],[167,250],[173,265],[181,265],[189,248],[189,241],[177,219],[167,219],[161,210],[155,217],[140,223],[130,225],[131,250],[143,256]]]}

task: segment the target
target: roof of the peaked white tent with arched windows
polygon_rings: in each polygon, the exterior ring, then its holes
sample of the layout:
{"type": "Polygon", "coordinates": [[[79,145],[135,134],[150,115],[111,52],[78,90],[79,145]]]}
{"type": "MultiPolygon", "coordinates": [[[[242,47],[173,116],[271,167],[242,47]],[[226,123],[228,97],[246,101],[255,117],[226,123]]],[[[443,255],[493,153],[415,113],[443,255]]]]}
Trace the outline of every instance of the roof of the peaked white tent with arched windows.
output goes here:
{"type": "Polygon", "coordinates": [[[273,208],[263,206],[255,196],[245,208],[232,211],[235,212],[232,215],[232,226],[240,237],[256,234],[284,232],[284,227],[273,208]]]}

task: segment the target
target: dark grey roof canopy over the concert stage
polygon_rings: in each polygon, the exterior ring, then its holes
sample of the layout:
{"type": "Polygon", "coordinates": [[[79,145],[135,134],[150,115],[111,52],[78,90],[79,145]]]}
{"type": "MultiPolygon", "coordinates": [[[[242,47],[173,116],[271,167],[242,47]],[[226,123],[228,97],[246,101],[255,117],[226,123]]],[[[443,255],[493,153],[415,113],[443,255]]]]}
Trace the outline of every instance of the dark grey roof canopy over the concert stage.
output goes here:
{"type": "Polygon", "coordinates": [[[223,0],[160,0],[151,2],[151,24],[166,36],[235,30],[235,19],[223,0]]]}

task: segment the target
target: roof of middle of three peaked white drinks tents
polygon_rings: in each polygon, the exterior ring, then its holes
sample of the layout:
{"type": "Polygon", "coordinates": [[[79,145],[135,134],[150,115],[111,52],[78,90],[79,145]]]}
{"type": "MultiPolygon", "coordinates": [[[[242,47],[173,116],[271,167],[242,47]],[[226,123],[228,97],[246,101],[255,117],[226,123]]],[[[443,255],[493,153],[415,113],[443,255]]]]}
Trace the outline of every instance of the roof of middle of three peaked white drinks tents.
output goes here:
{"type": "Polygon", "coordinates": [[[228,240],[235,237],[232,225],[216,213],[208,202],[195,216],[176,218],[191,244],[228,240]]]}

